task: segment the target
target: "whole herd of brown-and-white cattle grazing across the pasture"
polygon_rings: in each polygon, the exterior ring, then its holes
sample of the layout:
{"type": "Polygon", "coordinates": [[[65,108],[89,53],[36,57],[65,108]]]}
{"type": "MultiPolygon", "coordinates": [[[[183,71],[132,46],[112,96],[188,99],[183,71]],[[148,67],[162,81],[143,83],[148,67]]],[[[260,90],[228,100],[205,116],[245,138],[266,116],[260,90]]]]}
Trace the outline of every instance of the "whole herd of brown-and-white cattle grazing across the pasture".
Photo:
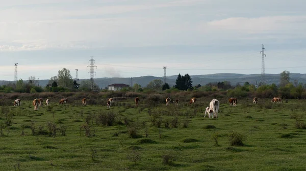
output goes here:
{"type": "MultiPolygon", "coordinates": [[[[86,100],[87,100],[86,98],[82,99],[82,105],[86,105],[86,100]]],[[[45,106],[49,105],[49,101],[50,101],[50,99],[46,99],[45,106]]],[[[136,106],[138,106],[138,104],[140,102],[139,97],[136,97],[134,101],[136,103],[136,106]]],[[[113,102],[113,98],[109,98],[108,101],[107,101],[107,109],[110,109],[112,102],[113,102]]],[[[168,106],[170,104],[170,102],[171,102],[170,97],[167,97],[166,98],[166,106],[168,106]]],[[[172,102],[174,102],[176,106],[180,105],[180,100],[179,99],[175,99],[172,102]]],[[[230,99],[228,99],[228,102],[230,102],[230,106],[237,106],[237,98],[231,97],[230,99]]],[[[253,103],[257,104],[257,102],[258,102],[258,98],[254,97],[253,98],[253,103]]],[[[277,103],[282,102],[282,98],[281,97],[273,97],[271,102],[277,102],[277,103]]],[[[60,104],[67,105],[67,103],[68,103],[67,98],[62,98],[59,101],[59,105],[60,104]]],[[[189,101],[189,104],[195,104],[195,103],[196,103],[196,98],[192,97],[189,101]]],[[[42,106],[42,104],[43,104],[42,98],[35,98],[33,100],[34,111],[38,111],[38,107],[42,106]]],[[[18,98],[14,101],[14,106],[20,106],[20,98],[18,98]]],[[[209,107],[206,108],[204,117],[206,117],[206,113],[207,113],[209,118],[218,118],[219,106],[220,106],[220,102],[217,99],[212,99],[209,107]]]]}

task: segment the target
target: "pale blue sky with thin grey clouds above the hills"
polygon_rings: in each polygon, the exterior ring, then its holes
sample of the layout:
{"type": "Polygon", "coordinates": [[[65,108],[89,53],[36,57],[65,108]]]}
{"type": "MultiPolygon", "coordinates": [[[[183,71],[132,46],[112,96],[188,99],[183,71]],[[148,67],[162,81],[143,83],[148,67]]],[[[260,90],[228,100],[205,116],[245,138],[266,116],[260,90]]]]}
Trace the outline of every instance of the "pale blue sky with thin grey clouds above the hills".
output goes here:
{"type": "Polygon", "coordinates": [[[304,0],[12,0],[0,3],[0,80],[305,74],[304,0]]]}

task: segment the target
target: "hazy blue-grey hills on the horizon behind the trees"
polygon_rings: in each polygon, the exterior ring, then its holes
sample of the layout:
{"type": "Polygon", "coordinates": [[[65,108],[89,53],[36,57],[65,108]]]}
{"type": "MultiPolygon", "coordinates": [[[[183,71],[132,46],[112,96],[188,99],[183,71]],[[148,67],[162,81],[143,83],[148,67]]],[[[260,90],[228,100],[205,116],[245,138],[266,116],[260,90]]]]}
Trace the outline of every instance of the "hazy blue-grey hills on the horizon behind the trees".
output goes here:
{"type": "MultiPolygon", "coordinates": [[[[194,75],[191,76],[193,86],[195,85],[205,85],[210,82],[222,82],[222,81],[229,81],[232,85],[236,85],[237,83],[243,84],[244,82],[248,81],[250,84],[258,84],[261,82],[261,74],[230,74],[230,73],[220,73],[220,74],[208,74],[208,75],[194,75]]],[[[167,83],[172,87],[175,85],[176,76],[168,76],[167,83]]],[[[265,80],[267,84],[276,84],[279,83],[279,74],[265,74],[265,80]]],[[[137,83],[141,86],[145,87],[150,81],[155,79],[163,80],[163,77],[154,77],[154,76],[143,76],[143,77],[134,77],[133,84],[137,83]]],[[[298,80],[299,83],[306,83],[306,74],[298,74],[298,73],[290,73],[291,82],[293,80],[298,80]]],[[[28,80],[24,80],[28,82],[28,80]]],[[[80,79],[80,82],[82,79],[80,79]]],[[[8,84],[10,81],[0,81],[0,85],[8,84]]],[[[48,80],[39,80],[39,85],[44,87],[48,83],[48,80]]],[[[96,78],[95,83],[98,84],[100,88],[105,88],[108,85],[114,83],[122,83],[131,85],[131,78],[96,78]]]]}

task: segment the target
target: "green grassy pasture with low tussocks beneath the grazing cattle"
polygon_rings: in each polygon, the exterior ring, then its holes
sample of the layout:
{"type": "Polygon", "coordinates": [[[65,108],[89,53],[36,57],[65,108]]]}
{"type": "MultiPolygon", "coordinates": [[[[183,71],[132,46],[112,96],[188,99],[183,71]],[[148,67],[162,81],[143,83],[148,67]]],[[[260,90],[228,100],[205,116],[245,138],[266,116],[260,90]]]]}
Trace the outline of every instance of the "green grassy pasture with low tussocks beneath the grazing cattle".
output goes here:
{"type": "Polygon", "coordinates": [[[205,98],[179,107],[135,107],[132,98],[110,110],[81,100],[37,112],[32,101],[2,107],[0,170],[306,170],[305,100],[219,100],[218,119],[203,117],[205,98]],[[5,113],[12,126],[3,126],[5,113]],[[243,144],[232,146],[230,134],[243,144]]]}

